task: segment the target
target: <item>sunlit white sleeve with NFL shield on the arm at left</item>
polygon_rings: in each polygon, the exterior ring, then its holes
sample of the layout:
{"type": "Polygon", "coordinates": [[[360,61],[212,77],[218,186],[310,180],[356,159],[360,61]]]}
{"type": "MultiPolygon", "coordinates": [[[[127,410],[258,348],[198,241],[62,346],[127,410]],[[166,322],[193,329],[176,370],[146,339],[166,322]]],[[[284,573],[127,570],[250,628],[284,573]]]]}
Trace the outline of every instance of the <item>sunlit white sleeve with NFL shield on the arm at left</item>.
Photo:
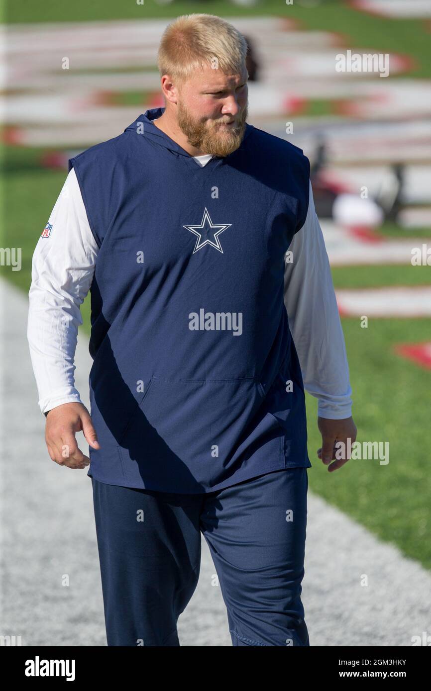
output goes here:
{"type": "Polygon", "coordinates": [[[89,227],[75,171],[68,173],[33,253],[27,338],[39,408],[77,401],[75,349],[80,305],[89,292],[98,244],[89,227]]]}

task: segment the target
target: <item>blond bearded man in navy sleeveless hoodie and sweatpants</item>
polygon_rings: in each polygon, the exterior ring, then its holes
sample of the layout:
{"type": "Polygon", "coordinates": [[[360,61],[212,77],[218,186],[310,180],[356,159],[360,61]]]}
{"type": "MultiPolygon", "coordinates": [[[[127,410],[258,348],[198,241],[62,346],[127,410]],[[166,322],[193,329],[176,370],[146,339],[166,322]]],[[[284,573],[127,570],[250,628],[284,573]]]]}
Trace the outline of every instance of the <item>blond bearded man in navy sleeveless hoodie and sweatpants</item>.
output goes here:
{"type": "Polygon", "coordinates": [[[310,644],[304,384],[325,464],[356,427],[309,160],[246,122],[246,49],[219,17],[170,24],[165,108],[69,161],[33,257],[46,444],[91,459],[108,645],[179,645],[201,532],[232,644],[310,644]],[[91,416],[73,379],[89,289],[91,416]]]}

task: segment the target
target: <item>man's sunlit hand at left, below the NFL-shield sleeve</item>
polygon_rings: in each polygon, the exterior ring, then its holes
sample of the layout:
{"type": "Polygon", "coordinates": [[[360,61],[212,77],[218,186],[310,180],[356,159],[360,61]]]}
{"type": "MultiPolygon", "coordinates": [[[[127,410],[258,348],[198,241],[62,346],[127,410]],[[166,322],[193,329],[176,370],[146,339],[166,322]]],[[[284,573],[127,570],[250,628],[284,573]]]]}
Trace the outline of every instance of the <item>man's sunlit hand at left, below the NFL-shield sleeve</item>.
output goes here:
{"type": "Polygon", "coordinates": [[[86,468],[90,459],[77,446],[75,432],[82,431],[92,448],[100,448],[89,411],[82,403],[64,403],[46,415],[45,441],[51,460],[68,468],[86,468]]]}

